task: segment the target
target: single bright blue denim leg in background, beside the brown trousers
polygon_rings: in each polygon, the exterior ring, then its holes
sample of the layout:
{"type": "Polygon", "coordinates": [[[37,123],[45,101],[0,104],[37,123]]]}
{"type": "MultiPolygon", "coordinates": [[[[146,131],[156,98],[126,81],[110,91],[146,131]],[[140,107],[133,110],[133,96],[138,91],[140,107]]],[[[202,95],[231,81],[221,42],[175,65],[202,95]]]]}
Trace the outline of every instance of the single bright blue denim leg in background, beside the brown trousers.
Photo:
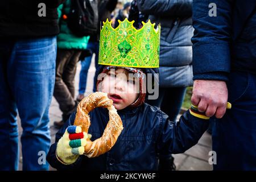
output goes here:
{"type": "Polygon", "coordinates": [[[92,61],[92,56],[85,57],[85,60],[81,61],[81,71],[79,75],[79,94],[85,93],[87,74],[90,68],[91,61],[92,61]]]}

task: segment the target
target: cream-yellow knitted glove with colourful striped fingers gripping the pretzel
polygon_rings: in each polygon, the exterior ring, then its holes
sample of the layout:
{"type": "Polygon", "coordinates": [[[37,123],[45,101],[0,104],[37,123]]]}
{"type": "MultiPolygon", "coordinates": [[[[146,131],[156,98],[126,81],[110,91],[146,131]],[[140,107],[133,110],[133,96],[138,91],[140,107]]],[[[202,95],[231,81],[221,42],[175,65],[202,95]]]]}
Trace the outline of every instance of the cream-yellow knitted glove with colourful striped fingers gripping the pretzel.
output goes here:
{"type": "Polygon", "coordinates": [[[56,157],[59,162],[65,165],[75,163],[84,154],[87,138],[88,134],[82,133],[81,127],[69,126],[57,143],[56,157]]]}

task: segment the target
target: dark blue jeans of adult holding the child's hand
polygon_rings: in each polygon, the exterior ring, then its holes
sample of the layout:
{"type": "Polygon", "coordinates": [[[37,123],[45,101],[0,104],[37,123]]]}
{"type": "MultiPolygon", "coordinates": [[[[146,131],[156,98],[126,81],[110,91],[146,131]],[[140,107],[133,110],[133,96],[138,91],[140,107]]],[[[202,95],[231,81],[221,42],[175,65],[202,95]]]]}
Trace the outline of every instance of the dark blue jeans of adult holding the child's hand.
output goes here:
{"type": "Polygon", "coordinates": [[[232,72],[227,82],[232,109],[214,119],[214,170],[256,170],[256,75],[232,72]]]}

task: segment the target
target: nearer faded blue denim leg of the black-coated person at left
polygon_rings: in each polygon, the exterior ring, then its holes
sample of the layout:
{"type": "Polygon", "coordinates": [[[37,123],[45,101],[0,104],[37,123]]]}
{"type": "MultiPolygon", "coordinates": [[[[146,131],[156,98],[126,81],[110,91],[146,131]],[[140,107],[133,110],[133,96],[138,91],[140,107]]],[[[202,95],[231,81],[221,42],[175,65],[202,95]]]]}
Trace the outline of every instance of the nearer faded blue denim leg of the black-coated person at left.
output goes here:
{"type": "Polygon", "coordinates": [[[47,170],[49,106],[55,82],[56,37],[21,39],[9,60],[11,89],[23,133],[23,170],[47,170]],[[42,157],[42,158],[40,158],[42,157]]]}

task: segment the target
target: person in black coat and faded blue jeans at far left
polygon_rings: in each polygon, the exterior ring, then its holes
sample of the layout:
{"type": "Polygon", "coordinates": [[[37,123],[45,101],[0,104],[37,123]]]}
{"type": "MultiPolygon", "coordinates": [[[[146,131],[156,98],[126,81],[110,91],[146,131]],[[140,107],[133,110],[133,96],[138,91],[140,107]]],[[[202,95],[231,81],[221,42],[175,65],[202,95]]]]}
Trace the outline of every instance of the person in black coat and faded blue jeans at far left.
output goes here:
{"type": "Polygon", "coordinates": [[[51,144],[57,7],[63,2],[0,1],[0,171],[18,170],[18,113],[23,129],[22,169],[49,168],[47,162],[39,163],[39,157],[51,144]]]}

